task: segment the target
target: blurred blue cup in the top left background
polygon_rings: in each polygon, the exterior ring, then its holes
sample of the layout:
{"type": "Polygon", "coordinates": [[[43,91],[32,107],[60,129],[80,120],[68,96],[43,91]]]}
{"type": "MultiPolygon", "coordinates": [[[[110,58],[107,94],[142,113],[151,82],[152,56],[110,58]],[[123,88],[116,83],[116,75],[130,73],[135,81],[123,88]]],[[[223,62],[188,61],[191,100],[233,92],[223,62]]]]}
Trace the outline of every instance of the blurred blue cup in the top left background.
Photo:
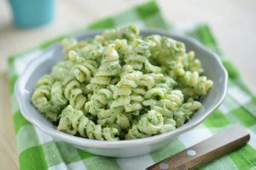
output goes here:
{"type": "Polygon", "coordinates": [[[9,0],[17,27],[39,27],[52,21],[54,0],[9,0]]]}

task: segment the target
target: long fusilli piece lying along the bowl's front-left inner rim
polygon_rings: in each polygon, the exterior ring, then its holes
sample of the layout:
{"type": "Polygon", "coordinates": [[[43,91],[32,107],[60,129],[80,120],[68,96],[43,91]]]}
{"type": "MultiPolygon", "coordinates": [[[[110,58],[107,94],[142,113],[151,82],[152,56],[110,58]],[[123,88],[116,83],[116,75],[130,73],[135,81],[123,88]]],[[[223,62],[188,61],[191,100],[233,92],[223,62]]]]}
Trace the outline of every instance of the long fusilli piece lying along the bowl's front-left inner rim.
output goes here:
{"type": "Polygon", "coordinates": [[[101,128],[101,125],[95,125],[90,121],[82,111],[78,111],[68,105],[60,114],[60,122],[57,130],[75,135],[77,132],[82,137],[89,139],[117,141],[118,130],[115,128],[101,128]]]}

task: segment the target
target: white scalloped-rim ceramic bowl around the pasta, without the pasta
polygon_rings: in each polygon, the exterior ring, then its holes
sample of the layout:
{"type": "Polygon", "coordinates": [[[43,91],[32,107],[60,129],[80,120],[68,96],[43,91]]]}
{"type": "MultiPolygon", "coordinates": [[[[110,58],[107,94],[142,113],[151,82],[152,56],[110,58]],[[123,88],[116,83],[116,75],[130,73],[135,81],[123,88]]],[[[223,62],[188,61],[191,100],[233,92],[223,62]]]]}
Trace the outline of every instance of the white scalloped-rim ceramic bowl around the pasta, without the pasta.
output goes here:
{"type": "MultiPolygon", "coordinates": [[[[100,34],[101,32],[102,31],[88,31],[77,36],[76,39],[88,39],[100,34]]],[[[200,99],[203,107],[192,116],[190,121],[180,128],[154,137],[126,141],[96,141],[75,137],[56,130],[56,126],[36,111],[31,104],[30,99],[35,83],[40,76],[49,73],[52,66],[63,58],[60,43],[50,46],[43,54],[36,57],[17,80],[15,84],[15,95],[18,99],[22,115],[32,124],[44,131],[44,133],[51,135],[53,138],[68,142],[81,150],[97,155],[114,157],[137,156],[148,154],[149,152],[168,145],[172,138],[199,125],[210,115],[210,113],[220,106],[226,94],[228,74],[220,59],[218,59],[217,54],[211,52],[196,40],[188,37],[171,35],[170,33],[159,29],[143,29],[141,31],[141,35],[143,36],[152,34],[164,35],[184,42],[187,50],[195,51],[196,58],[200,59],[205,69],[205,75],[214,82],[209,93],[200,99]]]]}

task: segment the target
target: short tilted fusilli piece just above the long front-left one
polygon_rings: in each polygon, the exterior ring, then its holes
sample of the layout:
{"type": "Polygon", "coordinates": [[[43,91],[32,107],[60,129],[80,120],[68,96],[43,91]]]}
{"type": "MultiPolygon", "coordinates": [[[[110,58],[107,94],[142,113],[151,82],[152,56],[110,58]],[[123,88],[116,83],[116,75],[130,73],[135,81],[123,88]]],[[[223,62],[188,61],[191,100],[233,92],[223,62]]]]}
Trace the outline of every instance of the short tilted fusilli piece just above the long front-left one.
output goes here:
{"type": "Polygon", "coordinates": [[[66,99],[69,100],[69,104],[73,108],[81,110],[86,102],[86,97],[82,95],[80,83],[76,79],[72,78],[72,76],[68,76],[64,80],[62,87],[64,88],[64,95],[66,99]]]}

